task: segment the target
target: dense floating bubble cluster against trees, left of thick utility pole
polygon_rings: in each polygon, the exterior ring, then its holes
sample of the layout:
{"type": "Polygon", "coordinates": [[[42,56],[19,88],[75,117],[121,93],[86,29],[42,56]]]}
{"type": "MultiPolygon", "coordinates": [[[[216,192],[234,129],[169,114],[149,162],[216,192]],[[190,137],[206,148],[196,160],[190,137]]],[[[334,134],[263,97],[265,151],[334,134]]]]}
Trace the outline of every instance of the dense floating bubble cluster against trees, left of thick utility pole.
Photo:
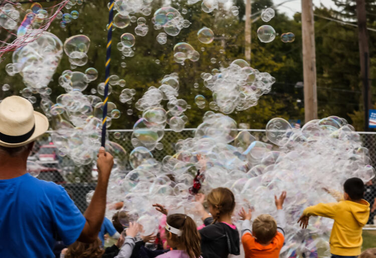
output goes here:
{"type": "Polygon", "coordinates": [[[229,67],[211,73],[202,73],[204,85],[213,92],[213,109],[230,114],[257,105],[259,97],[271,90],[275,78],[269,73],[250,67],[242,59],[229,67]]]}

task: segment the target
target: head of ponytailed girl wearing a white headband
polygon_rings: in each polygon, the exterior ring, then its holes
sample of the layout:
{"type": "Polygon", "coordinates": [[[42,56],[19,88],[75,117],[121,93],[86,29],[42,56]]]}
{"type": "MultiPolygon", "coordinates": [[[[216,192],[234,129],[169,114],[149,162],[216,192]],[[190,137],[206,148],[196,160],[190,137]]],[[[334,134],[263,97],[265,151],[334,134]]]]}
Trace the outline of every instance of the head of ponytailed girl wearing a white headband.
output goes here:
{"type": "Polygon", "coordinates": [[[190,258],[200,257],[200,235],[190,216],[179,213],[168,215],[165,236],[169,246],[183,248],[190,258]]]}

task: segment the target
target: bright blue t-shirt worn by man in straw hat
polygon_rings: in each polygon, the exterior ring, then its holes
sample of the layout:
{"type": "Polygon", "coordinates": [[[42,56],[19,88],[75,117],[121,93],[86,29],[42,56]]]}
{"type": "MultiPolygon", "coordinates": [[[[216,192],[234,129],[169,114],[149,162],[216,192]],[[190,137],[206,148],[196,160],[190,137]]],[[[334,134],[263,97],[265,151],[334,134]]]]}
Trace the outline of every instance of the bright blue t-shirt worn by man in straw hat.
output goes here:
{"type": "Polygon", "coordinates": [[[63,187],[30,174],[0,180],[0,257],[55,257],[56,237],[72,244],[85,223],[63,187]]]}

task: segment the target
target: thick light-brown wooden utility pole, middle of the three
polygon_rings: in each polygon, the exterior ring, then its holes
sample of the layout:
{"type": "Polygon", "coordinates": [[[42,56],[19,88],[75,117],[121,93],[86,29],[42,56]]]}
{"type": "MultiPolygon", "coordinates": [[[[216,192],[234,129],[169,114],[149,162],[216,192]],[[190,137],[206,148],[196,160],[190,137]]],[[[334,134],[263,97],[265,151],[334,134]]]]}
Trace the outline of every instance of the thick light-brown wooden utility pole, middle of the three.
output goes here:
{"type": "Polygon", "coordinates": [[[316,50],[312,0],[302,3],[302,41],[305,122],[317,119],[316,50]]]}

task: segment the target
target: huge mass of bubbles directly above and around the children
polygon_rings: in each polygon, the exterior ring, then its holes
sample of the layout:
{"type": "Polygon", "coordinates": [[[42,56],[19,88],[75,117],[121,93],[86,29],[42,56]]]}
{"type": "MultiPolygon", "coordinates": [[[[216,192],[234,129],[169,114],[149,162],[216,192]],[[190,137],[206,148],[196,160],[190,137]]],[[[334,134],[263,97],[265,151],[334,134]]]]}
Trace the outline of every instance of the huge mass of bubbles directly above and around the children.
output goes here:
{"type": "Polygon", "coordinates": [[[254,209],[255,217],[264,213],[275,216],[274,195],[286,190],[287,244],[281,257],[299,256],[315,248],[324,250],[323,257],[330,256],[332,220],[315,217],[307,230],[301,230],[296,221],[305,207],[333,202],[347,178],[366,182],[374,177],[367,149],[361,146],[354,128],[336,116],[312,120],[299,130],[274,118],[266,131],[267,139],[258,139],[248,131],[238,133],[235,120],[208,111],[194,137],[177,141],[176,154],[162,162],[147,148],[135,148],[129,157],[133,170],[115,168],[111,174],[109,202],[123,200],[122,212],[130,221],[139,222],[145,234],[151,234],[157,232],[160,218],[153,203],[179,210],[202,224],[189,191],[198,170],[202,192],[208,194],[217,187],[232,190],[237,203],[233,221],[238,227],[241,221],[235,214],[241,207],[254,209]]]}

